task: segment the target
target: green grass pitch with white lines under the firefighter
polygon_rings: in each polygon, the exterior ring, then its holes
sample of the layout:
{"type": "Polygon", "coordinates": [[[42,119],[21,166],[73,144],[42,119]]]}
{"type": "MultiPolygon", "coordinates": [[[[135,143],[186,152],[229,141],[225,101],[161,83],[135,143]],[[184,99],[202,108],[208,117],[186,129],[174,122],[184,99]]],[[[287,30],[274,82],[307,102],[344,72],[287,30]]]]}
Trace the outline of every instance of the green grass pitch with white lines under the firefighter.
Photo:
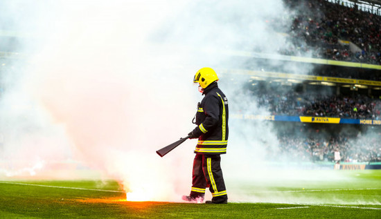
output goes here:
{"type": "Polygon", "coordinates": [[[381,218],[381,171],[337,173],[353,180],[246,184],[261,201],[229,204],[127,202],[114,181],[0,181],[0,218],[381,218]]]}

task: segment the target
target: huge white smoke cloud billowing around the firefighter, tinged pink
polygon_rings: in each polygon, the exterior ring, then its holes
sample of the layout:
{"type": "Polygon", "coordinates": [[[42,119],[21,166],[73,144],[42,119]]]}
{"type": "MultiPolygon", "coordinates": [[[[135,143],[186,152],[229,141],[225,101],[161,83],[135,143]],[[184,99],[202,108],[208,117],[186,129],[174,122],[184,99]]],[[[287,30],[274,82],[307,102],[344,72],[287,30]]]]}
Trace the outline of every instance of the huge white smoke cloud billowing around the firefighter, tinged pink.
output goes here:
{"type": "MultiPolygon", "coordinates": [[[[0,111],[3,157],[27,164],[6,170],[78,160],[123,181],[134,200],[179,200],[190,189],[195,141],[165,158],[154,151],[193,129],[202,98],[190,85],[194,73],[237,66],[231,51],[276,53],[285,44],[269,25],[285,11],[281,0],[19,0],[0,6],[15,12],[4,15],[1,27],[10,22],[13,31],[30,36],[20,39],[26,58],[15,62],[17,73],[4,76],[9,83],[0,111]]],[[[250,113],[266,115],[237,93],[241,87],[222,86],[232,111],[247,104],[250,113]]],[[[230,130],[222,158],[227,182],[258,177],[247,171],[261,167],[266,148],[276,149],[272,125],[231,120],[230,130]],[[237,171],[242,166],[245,171],[237,171]]]]}

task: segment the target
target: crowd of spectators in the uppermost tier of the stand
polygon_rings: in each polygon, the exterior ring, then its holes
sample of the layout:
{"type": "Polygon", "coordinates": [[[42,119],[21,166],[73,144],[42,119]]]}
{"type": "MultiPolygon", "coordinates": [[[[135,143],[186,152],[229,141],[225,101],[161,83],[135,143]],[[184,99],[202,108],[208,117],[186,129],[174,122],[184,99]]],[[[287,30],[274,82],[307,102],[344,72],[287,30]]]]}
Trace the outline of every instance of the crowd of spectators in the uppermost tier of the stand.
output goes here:
{"type": "Polygon", "coordinates": [[[284,55],[306,53],[323,59],[381,64],[381,17],[326,0],[285,0],[290,44],[284,55]],[[350,46],[351,45],[351,46],[350,46]]]}

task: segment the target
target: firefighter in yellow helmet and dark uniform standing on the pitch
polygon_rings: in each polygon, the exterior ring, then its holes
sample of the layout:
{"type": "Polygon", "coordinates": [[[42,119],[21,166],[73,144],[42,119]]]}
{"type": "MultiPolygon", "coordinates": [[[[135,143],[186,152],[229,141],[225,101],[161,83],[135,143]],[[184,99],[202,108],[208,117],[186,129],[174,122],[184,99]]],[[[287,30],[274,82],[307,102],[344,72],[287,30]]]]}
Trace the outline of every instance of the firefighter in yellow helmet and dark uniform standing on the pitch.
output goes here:
{"type": "Polygon", "coordinates": [[[197,106],[194,122],[197,126],[188,133],[189,138],[198,138],[190,195],[182,197],[188,202],[204,202],[205,190],[209,187],[213,198],[205,203],[227,203],[220,155],[227,153],[229,110],[227,97],[218,88],[217,81],[212,68],[201,68],[193,79],[204,98],[197,106]]]}

